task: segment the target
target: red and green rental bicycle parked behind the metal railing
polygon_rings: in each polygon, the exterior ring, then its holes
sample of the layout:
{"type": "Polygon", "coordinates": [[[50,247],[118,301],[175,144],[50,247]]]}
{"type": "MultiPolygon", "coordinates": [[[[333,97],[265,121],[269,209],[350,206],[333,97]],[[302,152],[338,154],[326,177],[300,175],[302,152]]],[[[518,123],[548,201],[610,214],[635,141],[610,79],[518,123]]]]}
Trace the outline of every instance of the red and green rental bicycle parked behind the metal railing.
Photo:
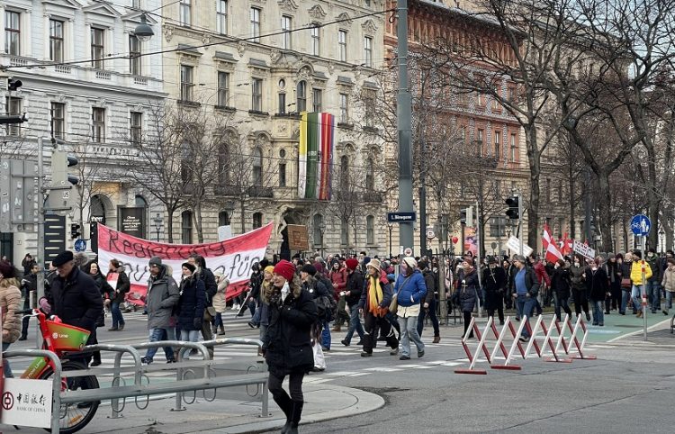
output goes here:
{"type": "MultiPolygon", "coordinates": [[[[38,319],[39,330],[44,339],[43,348],[55,353],[61,360],[62,371],[87,369],[85,355],[81,352],[89,339],[89,330],[65,324],[56,315],[45,315],[40,309],[18,311],[27,317],[38,319]]],[[[49,380],[54,375],[49,357],[36,357],[21,375],[24,379],[49,380]]],[[[61,378],[61,392],[74,390],[98,389],[95,375],[61,378]]],[[[101,402],[77,402],[61,404],[59,409],[59,432],[70,434],[85,426],[94,418],[101,402]]],[[[46,429],[49,431],[49,429],[46,429]]]]}

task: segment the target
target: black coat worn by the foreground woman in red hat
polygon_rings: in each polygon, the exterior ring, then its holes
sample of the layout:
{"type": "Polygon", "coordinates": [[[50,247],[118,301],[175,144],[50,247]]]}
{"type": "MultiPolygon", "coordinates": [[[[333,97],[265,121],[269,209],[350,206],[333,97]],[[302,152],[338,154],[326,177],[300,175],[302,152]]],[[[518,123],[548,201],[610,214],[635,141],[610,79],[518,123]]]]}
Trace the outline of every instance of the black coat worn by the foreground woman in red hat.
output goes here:
{"type": "Polygon", "coordinates": [[[314,366],[310,331],[319,317],[313,298],[299,287],[283,301],[278,291],[270,296],[263,354],[271,375],[306,373],[314,366]]]}

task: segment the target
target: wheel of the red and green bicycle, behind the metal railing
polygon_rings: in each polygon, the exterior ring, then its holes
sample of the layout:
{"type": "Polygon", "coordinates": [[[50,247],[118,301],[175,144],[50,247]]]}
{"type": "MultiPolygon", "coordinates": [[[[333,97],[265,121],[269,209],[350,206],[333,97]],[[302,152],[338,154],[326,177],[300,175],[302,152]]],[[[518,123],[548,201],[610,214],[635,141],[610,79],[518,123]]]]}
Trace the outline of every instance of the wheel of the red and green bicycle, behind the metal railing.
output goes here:
{"type": "MultiPolygon", "coordinates": [[[[66,361],[62,365],[64,371],[77,371],[86,369],[84,363],[66,361]]],[[[49,367],[40,375],[40,380],[49,380],[54,375],[54,371],[49,367]]],[[[94,375],[76,376],[65,378],[61,381],[61,390],[67,387],[67,390],[89,390],[98,389],[98,380],[94,375]]],[[[76,402],[70,404],[61,404],[58,414],[58,427],[61,434],[70,434],[85,428],[85,426],[94,418],[98,405],[101,402],[76,402]]],[[[46,429],[49,431],[49,429],[46,429]]]]}

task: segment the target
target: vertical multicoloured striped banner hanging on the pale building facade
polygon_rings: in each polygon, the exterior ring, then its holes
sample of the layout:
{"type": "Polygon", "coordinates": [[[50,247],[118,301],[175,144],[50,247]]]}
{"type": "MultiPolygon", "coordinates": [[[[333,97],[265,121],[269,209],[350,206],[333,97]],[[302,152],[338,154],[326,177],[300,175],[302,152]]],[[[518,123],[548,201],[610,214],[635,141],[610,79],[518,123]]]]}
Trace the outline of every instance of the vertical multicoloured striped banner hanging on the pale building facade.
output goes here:
{"type": "Polygon", "coordinates": [[[331,196],[335,116],[303,112],[298,147],[298,196],[328,201],[331,196]]]}

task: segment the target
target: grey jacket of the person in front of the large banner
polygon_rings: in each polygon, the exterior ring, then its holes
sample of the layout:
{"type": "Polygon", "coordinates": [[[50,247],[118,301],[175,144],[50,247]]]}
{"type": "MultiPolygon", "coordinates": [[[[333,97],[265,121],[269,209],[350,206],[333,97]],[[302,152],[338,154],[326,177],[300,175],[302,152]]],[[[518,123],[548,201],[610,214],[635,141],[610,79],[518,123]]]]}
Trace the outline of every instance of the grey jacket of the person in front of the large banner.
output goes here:
{"type": "Polygon", "coordinates": [[[172,324],[172,311],[178,298],[178,285],[172,276],[166,273],[166,266],[162,266],[159,275],[148,279],[148,294],[146,294],[146,309],[148,310],[148,329],[166,329],[172,324]]]}

